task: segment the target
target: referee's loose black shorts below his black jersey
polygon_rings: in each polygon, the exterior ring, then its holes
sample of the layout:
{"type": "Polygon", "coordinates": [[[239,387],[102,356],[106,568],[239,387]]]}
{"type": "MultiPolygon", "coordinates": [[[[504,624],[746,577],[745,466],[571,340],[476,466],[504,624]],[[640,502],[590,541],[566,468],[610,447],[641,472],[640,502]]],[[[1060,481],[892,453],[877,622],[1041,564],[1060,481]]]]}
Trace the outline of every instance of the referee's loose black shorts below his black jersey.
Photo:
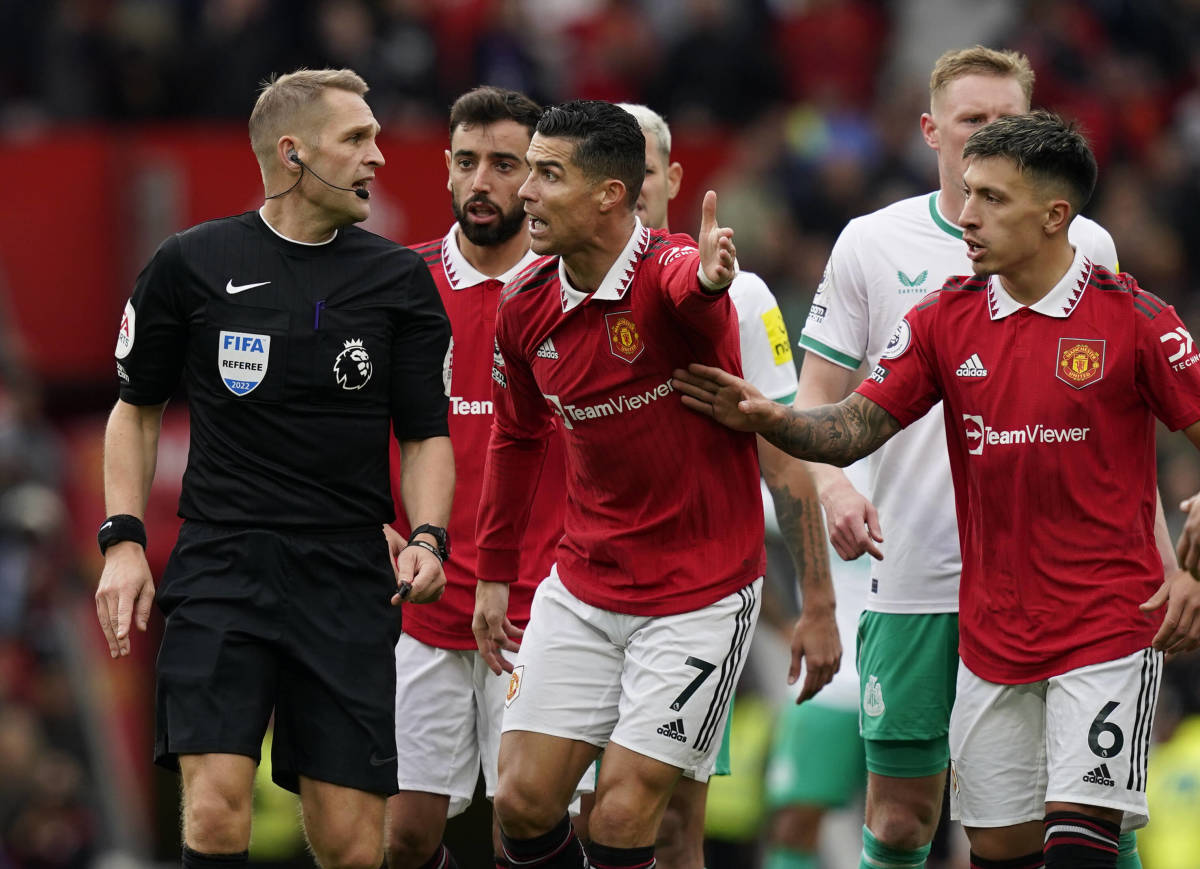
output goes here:
{"type": "Polygon", "coordinates": [[[272,778],[396,792],[398,611],[382,528],[281,533],[188,521],[157,592],[166,616],[155,762],[259,760],[272,778]]]}

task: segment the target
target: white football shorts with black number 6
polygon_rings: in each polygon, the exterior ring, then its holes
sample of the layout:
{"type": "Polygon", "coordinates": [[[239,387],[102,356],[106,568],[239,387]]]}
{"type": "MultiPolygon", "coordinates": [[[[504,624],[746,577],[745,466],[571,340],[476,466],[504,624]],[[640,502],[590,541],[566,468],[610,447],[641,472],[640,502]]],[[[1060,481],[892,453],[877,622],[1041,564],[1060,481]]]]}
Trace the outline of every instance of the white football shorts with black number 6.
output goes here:
{"type": "Polygon", "coordinates": [[[950,713],[950,816],[1006,827],[1045,816],[1046,802],[1150,820],[1146,761],[1163,653],[1146,648],[1022,685],[985,682],[959,661],[950,713]]]}

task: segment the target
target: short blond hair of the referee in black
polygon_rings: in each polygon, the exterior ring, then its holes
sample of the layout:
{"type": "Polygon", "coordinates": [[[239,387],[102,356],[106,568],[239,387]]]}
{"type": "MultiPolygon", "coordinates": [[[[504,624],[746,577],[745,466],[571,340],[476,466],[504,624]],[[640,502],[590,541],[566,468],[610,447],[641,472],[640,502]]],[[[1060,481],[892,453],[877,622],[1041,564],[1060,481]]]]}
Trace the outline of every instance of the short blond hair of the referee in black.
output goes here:
{"type": "Polygon", "coordinates": [[[367,83],[354,70],[296,70],[263,82],[250,113],[250,146],[260,166],[268,164],[281,136],[316,134],[320,98],[329,88],[359,96],[367,92],[367,83]]]}

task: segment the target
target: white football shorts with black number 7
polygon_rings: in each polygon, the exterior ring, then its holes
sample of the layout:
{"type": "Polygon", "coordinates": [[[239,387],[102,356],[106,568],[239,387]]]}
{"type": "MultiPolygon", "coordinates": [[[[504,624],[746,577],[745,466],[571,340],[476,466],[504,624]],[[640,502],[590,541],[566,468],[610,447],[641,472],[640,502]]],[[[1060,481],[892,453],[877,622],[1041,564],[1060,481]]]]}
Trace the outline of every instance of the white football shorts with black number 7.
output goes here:
{"type": "Polygon", "coordinates": [[[701,610],[629,616],[584,604],[552,570],[534,595],[504,731],[611,741],[707,781],[761,598],[758,577],[701,610]]]}

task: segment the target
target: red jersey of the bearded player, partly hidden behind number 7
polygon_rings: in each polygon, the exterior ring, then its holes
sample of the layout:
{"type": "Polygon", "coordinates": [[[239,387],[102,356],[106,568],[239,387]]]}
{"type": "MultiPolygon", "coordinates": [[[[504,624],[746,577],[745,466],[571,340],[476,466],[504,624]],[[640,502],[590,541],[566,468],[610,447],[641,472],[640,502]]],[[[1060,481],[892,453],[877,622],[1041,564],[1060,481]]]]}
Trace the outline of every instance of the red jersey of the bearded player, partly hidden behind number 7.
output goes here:
{"type": "MultiPolygon", "coordinates": [[[[450,443],[454,447],[455,495],[450,514],[450,561],[445,564],[446,591],[437,604],[406,606],[403,630],[430,646],[473,649],[470,617],[475,609],[475,513],[482,489],[484,460],[492,428],[492,352],[496,341],[496,307],[504,282],[516,276],[536,256],[527,254],[514,269],[491,278],[476,271],[458,250],[457,230],[445,238],[416,245],[430,266],[442,302],[450,317],[454,338],[446,360],[450,377],[450,443]]],[[[392,462],[392,492],[400,496],[401,467],[392,462]]],[[[521,546],[518,581],[509,597],[509,618],[523,628],[529,619],[533,591],[550,573],[554,545],[563,534],[563,447],[550,438],[521,546]]],[[[396,505],[396,528],[408,535],[403,505],[396,505]]]]}

